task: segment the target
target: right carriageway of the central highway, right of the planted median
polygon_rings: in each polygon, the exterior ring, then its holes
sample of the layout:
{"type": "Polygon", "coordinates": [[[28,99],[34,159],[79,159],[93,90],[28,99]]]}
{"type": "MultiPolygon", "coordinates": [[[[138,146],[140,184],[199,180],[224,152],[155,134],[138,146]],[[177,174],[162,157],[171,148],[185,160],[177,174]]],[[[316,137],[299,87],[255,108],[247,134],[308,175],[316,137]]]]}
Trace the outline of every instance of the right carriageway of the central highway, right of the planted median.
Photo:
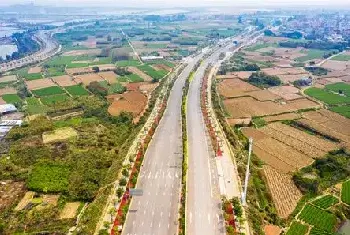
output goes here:
{"type": "Polygon", "coordinates": [[[206,133],[200,108],[201,80],[209,60],[214,61],[208,59],[202,63],[190,84],[188,93],[189,165],[186,222],[189,235],[225,234],[215,154],[206,133]]]}

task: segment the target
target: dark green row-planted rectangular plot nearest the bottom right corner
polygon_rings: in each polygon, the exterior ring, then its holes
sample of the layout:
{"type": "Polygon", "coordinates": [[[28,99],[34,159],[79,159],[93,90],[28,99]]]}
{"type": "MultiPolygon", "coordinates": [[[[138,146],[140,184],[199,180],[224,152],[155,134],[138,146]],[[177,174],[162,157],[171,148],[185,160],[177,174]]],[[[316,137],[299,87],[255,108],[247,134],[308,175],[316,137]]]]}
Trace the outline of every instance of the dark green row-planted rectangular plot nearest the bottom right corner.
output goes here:
{"type": "Polygon", "coordinates": [[[306,204],[298,218],[327,232],[333,232],[337,217],[313,205],[306,204]]]}

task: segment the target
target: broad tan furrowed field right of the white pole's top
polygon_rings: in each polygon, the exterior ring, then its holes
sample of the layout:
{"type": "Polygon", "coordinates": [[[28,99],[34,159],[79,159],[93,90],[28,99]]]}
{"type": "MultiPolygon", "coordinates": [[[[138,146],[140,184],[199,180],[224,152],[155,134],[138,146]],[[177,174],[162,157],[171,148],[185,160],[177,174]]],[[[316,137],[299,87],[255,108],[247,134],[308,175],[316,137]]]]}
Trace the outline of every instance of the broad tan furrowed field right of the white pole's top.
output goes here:
{"type": "Polygon", "coordinates": [[[337,145],[331,141],[277,122],[260,129],[243,128],[242,133],[253,137],[253,152],[280,173],[308,166],[314,158],[337,149],[337,145]]]}

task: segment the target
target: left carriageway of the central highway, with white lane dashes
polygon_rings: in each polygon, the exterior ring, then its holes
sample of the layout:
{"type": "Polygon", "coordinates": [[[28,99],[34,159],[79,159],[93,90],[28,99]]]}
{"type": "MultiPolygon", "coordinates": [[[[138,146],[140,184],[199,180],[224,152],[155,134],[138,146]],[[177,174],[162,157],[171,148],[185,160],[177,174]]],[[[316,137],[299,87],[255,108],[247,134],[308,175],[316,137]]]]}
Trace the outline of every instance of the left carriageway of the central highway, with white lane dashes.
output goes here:
{"type": "Polygon", "coordinates": [[[141,168],[137,188],[143,189],[143,196],[133,198],[123,235],[177,234],[182,163],[182,88],[196,60],[189,62],[174,84],[167,109],[141,168]]]}

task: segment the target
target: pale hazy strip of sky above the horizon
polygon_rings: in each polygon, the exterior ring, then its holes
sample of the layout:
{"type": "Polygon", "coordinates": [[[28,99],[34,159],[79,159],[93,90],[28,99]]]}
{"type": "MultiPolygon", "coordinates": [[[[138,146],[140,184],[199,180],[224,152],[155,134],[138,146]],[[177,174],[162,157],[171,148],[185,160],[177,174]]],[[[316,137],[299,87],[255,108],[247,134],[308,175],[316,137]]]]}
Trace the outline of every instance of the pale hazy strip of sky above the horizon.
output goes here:
{"type": "Polygon", "coordinates": [[[127,6],[127,7],[188,7],[188,6],[348,6],[350,0],[0,0],[0,5],[30,3],[53,6],[127,6]]]}

